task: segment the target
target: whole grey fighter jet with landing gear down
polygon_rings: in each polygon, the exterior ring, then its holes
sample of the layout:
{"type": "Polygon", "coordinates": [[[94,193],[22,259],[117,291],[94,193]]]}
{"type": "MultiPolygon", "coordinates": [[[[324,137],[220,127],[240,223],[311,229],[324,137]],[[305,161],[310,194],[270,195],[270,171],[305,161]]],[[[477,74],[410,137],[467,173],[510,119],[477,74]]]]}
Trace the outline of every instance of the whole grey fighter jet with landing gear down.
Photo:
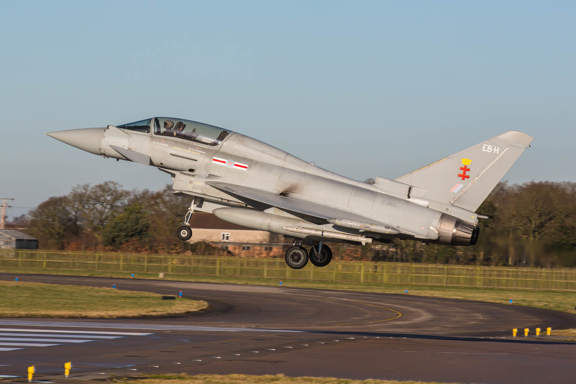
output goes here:
{"type": "Polygon", "coordinates": [[[331,242],[475,244],[479,219],[487,219],[476,210],[532,141],[507,131],[394,180],[378,176],[369,184],[246,135],[185,119],[154,117],[47,135],[172,176],[173,193],[191,198],[177,230],[181,240],[192,237],[194,212],[213,213],[293,239],[285,255],[293,269],[308,261],[328,265],[331,242]]]}

